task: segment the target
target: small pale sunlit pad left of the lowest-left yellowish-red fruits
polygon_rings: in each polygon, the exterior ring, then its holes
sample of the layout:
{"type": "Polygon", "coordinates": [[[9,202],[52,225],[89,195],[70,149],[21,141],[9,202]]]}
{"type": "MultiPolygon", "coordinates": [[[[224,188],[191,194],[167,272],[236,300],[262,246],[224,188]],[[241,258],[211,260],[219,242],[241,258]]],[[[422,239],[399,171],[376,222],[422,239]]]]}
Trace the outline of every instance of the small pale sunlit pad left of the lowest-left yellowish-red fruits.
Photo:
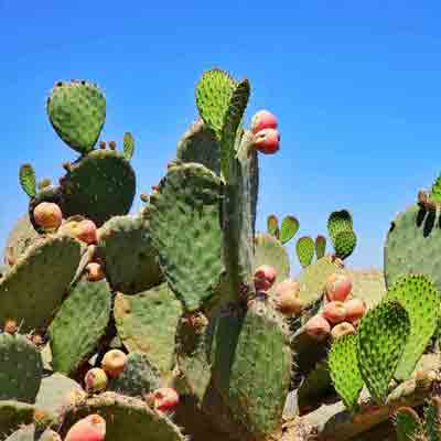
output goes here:
{"type": "Polygon", "coordinates": [[[42,379],[35,407],[54,419],[58,419],[63,415],[64,407],[72,404],[75,394],[80,396],[85,391],[72,378],[54,373],[42,379]]]}

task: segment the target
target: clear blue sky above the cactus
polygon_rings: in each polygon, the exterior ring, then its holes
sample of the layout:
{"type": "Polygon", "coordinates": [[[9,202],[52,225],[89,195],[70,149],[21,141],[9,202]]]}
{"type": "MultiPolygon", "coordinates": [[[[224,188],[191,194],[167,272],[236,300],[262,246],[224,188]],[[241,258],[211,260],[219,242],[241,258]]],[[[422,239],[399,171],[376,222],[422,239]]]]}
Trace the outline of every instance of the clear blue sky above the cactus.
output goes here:
{"type": "Polygon", "coordinates": [[[20,164],[56,181],[76,157],[45,115],[54,82],[105,90],[103,138],[136,137],[139,193],[196,117],[201,73],[219,66],[250,79],[248,120],[260,108],[280,120],[258,227],[294,214],[315,236],[346,207],[359,238],[347,263],[383,267],[390,220],[440,171],[440,19],[439,1],[0,0],[0,244],[26,209],[20,164]]]}

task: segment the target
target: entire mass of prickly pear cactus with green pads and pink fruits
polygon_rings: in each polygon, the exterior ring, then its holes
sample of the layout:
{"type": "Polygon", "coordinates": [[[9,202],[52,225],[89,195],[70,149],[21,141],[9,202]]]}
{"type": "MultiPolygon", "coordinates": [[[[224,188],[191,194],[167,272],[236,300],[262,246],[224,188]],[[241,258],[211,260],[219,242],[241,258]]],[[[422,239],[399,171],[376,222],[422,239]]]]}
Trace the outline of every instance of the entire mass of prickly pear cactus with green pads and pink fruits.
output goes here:
{"type": "Polygon", "coordinates": [[[356,270],[348,211],[301,237],[255,228],[275,115],[205,72],[200,118],[130,212],[131,133],[98,141],[101,90],[57,83],[50,122],[79,157],[58,185],[20,168],[26,214],[0,272],[0,440],[439,440],[441,181],[394,220],[385,269],[356,270]],[[314,256],[316,259],[314,260],[314,256]],[[427,402],[424,409],[422,405],[427,402]],[[423,415],[424,418],[421,416],[423,415]]]}

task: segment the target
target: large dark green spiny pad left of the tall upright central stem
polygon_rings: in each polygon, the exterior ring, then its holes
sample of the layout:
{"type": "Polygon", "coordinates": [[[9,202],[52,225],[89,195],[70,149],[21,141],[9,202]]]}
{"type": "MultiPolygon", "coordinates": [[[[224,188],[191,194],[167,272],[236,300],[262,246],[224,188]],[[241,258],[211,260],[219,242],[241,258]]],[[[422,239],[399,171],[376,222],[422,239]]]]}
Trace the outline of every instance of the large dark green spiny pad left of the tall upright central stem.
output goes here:
{"type": "Polygon", "coordinates": [[[146,215],[171,289],[185,310],[198,310],[224,271],[219,179],[204,165],[173,166],[146,215]]]}

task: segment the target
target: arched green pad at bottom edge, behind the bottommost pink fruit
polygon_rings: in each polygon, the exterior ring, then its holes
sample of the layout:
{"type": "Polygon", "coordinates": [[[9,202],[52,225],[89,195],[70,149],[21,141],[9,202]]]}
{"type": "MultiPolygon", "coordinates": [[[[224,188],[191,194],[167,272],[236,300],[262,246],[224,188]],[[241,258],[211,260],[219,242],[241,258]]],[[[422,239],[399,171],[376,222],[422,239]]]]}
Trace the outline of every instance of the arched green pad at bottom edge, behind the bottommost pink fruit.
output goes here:
{"type": "Polygon", "coordinates": [[[164,415],[138,398],[105,392],[66,409],[61,433],[79,419],[98,413],[106,420],[106,441],[184,441],[180,429],[164,415]],[[146,438],[147,437],[147,438],[146,438]]]}

